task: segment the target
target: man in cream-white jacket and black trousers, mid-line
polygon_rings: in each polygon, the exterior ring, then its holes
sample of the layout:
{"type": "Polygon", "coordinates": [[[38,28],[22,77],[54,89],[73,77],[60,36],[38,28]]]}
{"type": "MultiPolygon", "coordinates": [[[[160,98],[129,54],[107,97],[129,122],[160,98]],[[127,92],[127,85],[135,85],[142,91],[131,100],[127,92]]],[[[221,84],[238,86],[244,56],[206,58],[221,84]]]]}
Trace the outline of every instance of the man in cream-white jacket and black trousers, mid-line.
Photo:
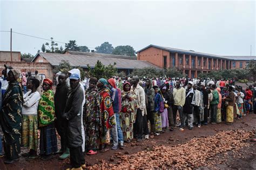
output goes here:
{"type": "Polygon", "coordinates": [[[137,137],[137,141],[142,141],[143,135],[143,115],[146,112],[145,103],[145,92],[143,88],[139,85],[139,77],[135,76],[132,78],[131,91],[134,91],[138,98],[138,108],[136,111],[136,120],[134,123],[134,137],[137,137]]]}

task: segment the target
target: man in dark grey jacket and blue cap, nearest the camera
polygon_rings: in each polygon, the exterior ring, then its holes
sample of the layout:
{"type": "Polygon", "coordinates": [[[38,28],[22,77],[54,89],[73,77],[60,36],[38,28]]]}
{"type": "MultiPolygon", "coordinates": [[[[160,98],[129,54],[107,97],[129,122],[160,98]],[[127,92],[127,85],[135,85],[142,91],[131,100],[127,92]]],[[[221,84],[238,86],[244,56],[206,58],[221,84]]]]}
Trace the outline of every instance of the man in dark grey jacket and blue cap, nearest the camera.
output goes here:
{"type": "Polygon", "coordinates": [[[82,103],[84,100],[84,91],[80,86],[80,77],[78,74],[71,74],[70,90],[66,102],[65,113],[63,118],[68,121],[67,139],[70,149],[70,163],[74,169],[84,169],[85,160],[83,155],[83,138],[82,138],[82,103]]]}

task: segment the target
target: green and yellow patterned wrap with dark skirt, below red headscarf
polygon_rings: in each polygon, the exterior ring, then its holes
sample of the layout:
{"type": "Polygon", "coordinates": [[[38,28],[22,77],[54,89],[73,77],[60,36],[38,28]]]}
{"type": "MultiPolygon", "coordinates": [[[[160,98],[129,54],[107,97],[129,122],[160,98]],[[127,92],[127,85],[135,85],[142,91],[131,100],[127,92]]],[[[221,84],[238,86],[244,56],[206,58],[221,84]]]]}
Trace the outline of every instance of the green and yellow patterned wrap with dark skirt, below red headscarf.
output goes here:
{"type": "Polygon", "coordinates": [[[55,106],[52,90],[44,91],[38,105],[38,122],[40,127],[40,154],[51,154],[58,150],[54,121],[55,106]]]}

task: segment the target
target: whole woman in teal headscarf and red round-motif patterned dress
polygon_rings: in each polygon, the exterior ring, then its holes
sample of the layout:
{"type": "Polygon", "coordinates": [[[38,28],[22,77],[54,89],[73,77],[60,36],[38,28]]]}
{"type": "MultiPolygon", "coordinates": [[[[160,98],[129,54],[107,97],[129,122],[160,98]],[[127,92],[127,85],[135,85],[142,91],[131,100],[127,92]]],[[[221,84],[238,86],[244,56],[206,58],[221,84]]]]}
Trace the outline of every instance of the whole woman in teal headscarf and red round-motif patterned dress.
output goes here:
{"type": "Polygon", "coordinates": [[[100,104],[100,117],[101,125],[99,130],[99,146],[100,152],[109,150],[107,145],[110,142],[110,128],[116,126],[116,118],[114,117],[112,99],[110,96],[111,91],[107,87],[107,80],[100,78],[97,82],[99,91],[99,104],[100,104]]]}

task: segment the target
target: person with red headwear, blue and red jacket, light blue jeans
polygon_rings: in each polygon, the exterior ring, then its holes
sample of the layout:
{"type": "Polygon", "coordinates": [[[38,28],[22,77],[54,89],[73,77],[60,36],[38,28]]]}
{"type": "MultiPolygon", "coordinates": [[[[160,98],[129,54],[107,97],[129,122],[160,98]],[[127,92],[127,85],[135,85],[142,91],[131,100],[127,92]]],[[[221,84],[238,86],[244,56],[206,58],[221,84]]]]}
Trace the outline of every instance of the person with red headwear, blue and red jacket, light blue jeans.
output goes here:
{"type": "Polygon", "coordinates": [[[121,90],[117,89],[114,79],[110,78],[107,80],[109,83],[109,89],[111,91],[110,96],[112,99],[114,117],[116,118],[116,126],[110,130],[111,137],[113,139],[113,147],[111,149],[116,150],[118,148],[118,143],[120,144],[120,149],[124,149],[124,137],[123,132],[120,127],[120,106],[121,106],[121,90]]]}

